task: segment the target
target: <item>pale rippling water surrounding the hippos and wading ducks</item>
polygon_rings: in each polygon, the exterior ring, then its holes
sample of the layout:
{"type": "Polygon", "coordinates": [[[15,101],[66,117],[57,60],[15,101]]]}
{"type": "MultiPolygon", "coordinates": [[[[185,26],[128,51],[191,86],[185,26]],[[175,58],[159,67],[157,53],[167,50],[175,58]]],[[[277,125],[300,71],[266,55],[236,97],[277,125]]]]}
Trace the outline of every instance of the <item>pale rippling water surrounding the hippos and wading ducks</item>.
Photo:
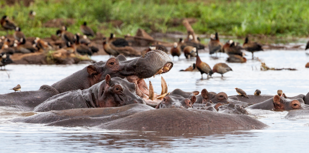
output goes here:
{"type": "MultiPolygon", "coordinates": [[[[246,52],[248,59],[251,53],[246,52]]],[[[260,62],[228,63],[233,69],[224,74],[213,74],[209,80],[201,80],[200,72],[179,72],[194,61],[180,61],[175,57],[174,67],[161,76],[167,81],[169,91],[180,88],[184,91],[225,92],[235,95],[235,87],[248,94],[256,89],[262,94],[276,94],[278,89],[287,96],[307,94],[309,69],[305,64],[309,57],[303,51],[257,52],[268,67],[296,68],[297,71],[260,71],[260,62]]],[[[200,53],[202,61],[210,67],[225,62],[227,55],[213,60],[200,53]]],[[[106,61],[108,56],[92,57],[106,61]]],[[[56,81],[86,67],[86,64],[70,66],[8,65],[7,72],[0,71],[0,94],[17,84],[22,91],[37,90],[43,84],[56,81]],[[7,73],[10,75],[8,78],[7,73]]],[[[204,78],[207,76],[204,74],[204,78]]],[[[160,77],[151,81],[156,92],[161,92],[160,77]]],[[[32,112],[0,111],[1,152],[306,152],[309,142],[309,119],[282,119],[287,111],[273,112],[249,110],[255,118],[271,128],[261,130],[206,130],[206,131],[110,131],[89,127],[50,127],[42,124],[12,123],[7,120],[30,116],[32,112]]]]}

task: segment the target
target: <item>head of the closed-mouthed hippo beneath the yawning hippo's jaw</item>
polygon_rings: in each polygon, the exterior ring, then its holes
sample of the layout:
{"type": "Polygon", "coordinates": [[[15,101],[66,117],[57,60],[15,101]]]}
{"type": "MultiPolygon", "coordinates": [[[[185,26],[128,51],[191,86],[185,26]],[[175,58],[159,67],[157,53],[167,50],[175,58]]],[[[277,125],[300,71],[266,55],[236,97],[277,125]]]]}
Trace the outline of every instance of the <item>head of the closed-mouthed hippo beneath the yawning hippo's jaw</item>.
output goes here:
{"type": "Polygon", "coordinates": [[[144,100],[135,94],[135,83],[121,79],[120,77],[110,78],[106,75],[105,83],[102,83],[99,91],[100,107],[118,107],[129,104],[145,104],[144,100]]]}

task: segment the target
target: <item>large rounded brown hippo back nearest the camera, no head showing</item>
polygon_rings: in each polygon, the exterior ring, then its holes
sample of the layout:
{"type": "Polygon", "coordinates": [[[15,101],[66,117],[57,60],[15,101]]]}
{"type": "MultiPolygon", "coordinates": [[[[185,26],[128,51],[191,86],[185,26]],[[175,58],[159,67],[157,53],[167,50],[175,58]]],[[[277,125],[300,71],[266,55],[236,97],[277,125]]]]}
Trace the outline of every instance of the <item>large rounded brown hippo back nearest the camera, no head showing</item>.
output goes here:
{"type": "Polygon", "coordinates": [[[165,108],[142,111],[96,127],[108,130],[205,130],[261,129],[269,126],[247,115],[229,115],[185,108],[165,108]]]}

